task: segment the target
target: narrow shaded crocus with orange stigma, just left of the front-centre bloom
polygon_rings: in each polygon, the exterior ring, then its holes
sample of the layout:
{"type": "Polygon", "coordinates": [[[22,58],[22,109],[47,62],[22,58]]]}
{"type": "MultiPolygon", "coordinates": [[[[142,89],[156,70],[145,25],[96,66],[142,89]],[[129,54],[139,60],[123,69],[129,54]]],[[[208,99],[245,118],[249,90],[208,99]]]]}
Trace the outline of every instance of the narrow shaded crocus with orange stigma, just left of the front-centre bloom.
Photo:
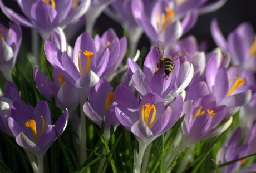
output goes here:
{"type": "Polygon", "coordinates": [[[115,116],[115,107],[113,102],[116,97],[116,91],[112,91],[111,85],[101,78],[101,80],[91,89],[89,101],[83,105],[83,111],[92,120],[101,126],[103,117],[106,117],[105,122],[105,138],[110,137],[110,127],[114,126],[114,130],[119,125],[119,121],[115,116]]]}

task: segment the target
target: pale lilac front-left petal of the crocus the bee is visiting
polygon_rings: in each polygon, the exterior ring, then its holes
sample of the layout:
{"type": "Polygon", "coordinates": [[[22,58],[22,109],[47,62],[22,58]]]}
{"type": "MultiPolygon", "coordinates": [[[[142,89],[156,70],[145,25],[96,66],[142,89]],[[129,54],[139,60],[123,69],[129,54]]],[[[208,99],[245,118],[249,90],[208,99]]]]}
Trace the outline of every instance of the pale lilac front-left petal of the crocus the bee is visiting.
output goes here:
{"type": "Polygon", "coordinates": [[[146,81],[146,76],[141,70],[137,70],[134,75],[132,75],[132,83],[142,96],[146,95],[147,93],[152,93],[149,83],[146,81]]]}

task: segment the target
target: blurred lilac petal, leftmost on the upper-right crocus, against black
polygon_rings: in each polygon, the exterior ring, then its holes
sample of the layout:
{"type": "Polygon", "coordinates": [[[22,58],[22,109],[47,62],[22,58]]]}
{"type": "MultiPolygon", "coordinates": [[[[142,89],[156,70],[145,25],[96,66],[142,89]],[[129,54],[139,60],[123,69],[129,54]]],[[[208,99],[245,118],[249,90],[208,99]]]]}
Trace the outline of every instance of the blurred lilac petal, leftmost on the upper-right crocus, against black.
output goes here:
{"type": "Polygon", "coordinates": [[[220,31],[219,24],[216,19],[211,21],[211,36],[213,36],[217,46],[219,46],[222,50],[227,51],[227,42],[220,31]]]}

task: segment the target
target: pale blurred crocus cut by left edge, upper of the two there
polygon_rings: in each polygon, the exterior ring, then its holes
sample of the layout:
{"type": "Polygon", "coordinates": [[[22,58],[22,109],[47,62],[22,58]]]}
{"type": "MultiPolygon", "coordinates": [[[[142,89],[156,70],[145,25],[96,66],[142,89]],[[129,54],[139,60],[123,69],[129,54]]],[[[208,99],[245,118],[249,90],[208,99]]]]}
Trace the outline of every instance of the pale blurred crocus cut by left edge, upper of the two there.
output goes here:
{"type": "Polygon", "coordinates": [[[21,46],[21,27],[16,23],[9,23],[9,28],[0,23],[0,71],[7,80],[11,80],[14,67],[21,46]]]}

